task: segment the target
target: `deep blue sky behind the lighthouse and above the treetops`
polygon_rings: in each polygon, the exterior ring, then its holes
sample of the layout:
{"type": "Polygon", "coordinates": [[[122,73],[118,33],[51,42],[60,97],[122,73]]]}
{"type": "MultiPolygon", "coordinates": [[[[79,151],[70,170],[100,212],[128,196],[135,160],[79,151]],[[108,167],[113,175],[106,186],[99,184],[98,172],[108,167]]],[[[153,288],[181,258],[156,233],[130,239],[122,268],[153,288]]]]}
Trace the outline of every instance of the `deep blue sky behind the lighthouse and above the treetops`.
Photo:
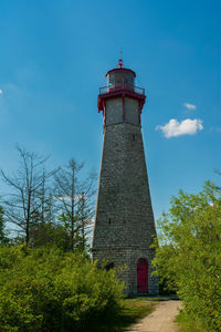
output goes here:
{"type": "Polygon", "coordinates": [[[219,0],[0,0],[0,31],[1,168],[17,169],[19,144],[50,155],[49,168],[75,157],[98,174],[98,87],[123,50],[148,96],[143,135],[156,218],[179,188],[221,183],[219,0]]]}

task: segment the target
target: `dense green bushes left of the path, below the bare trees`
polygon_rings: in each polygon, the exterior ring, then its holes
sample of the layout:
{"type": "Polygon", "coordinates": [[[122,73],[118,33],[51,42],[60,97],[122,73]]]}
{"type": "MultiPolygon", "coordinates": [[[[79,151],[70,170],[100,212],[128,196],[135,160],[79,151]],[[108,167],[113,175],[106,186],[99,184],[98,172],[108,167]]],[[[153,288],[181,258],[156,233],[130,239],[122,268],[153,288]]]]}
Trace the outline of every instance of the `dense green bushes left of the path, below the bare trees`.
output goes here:
{"type": "Polygon", "coordinates": [[[83,255],[0,247],[1,331],[90,331],[116,314],[123,288],[83,255]]]}

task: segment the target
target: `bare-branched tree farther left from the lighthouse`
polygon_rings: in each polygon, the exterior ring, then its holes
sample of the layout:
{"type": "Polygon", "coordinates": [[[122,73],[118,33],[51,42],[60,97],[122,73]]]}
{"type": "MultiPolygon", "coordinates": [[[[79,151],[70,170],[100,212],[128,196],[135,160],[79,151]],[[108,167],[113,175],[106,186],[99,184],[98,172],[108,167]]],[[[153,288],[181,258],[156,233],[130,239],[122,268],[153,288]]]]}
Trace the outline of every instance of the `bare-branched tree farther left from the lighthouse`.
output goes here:
{"type": "Polygon", "coordinates": [[[17,147],[20,156],[20,167],[15,175],[8,176],[2,169],[2,179],[8,185],[10,193],[4,195],[3,209],[6,220],[15,228],[13,231],[25,237],[25,242],[31,239],[31,228],[44,219],[45,183],[54,172],[45,172],[46,158],[24,148],[17,147]]]}

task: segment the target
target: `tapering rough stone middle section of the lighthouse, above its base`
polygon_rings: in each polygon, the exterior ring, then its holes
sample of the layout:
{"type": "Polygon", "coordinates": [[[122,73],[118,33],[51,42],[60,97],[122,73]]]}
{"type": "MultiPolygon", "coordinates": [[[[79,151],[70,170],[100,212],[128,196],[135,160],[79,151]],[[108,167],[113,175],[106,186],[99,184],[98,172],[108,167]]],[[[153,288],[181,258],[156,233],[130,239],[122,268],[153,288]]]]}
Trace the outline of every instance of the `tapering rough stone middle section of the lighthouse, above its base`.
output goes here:
{"type": "Polygon", "coordinates": [[[107,126],[93,247],[148,248],[156,235],[140,127],[107,126]]]}

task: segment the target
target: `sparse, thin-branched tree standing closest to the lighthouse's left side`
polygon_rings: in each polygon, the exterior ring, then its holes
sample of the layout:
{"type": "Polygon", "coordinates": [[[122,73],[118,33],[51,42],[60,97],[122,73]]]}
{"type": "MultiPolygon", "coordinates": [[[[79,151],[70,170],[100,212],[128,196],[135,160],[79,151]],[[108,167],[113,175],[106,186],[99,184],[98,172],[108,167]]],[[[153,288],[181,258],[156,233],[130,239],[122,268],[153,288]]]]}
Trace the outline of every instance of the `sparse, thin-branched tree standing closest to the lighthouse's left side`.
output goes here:
{"type": "Polygon", "coordinates": [[[80,237],[85,247],[86,234],[92,229],[94,214],[94,181],[95,175],[90,175],[83,180],[80,172],[84,164],[71,159],[69,165],[55,174],[55,195],[60,210],[60,221],[65,225],[70,235],[70,249],[77,247],[80,237]]]}

